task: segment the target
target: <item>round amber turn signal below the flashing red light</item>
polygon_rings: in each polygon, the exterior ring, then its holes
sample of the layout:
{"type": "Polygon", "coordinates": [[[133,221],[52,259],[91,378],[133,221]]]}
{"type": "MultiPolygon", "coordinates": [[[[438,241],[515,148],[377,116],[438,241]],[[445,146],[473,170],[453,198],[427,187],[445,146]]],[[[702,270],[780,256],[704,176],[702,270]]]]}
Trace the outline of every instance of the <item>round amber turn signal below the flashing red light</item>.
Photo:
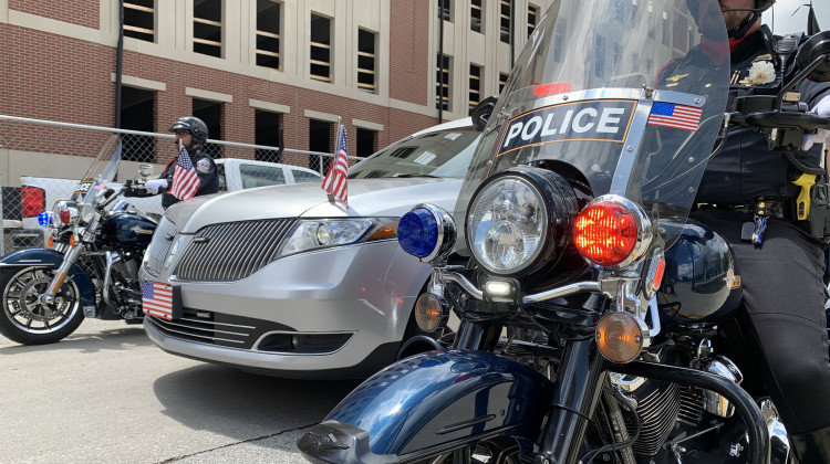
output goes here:
{"type": "Polygon", "coordinates": [[[611,362],[631,362],[647,342],[645,323],[630,313],[611,313],[596,325],[596,347],[611,362]]]}

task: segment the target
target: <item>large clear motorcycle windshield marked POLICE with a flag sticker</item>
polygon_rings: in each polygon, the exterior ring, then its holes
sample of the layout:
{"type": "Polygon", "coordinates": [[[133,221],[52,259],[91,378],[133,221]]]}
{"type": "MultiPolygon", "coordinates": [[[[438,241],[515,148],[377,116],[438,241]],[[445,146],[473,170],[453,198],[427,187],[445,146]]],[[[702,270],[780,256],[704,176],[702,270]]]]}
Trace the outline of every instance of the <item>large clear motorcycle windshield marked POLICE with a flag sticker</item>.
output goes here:
{"type": "Polygon", "coordinates": [[[728,78],[715,0],[554,2],[489,117],[456,224],[464,228],[487,177],[543,165],[588,182],[594,196],[642,204],[671,246],[715,146],[728,78]]]}

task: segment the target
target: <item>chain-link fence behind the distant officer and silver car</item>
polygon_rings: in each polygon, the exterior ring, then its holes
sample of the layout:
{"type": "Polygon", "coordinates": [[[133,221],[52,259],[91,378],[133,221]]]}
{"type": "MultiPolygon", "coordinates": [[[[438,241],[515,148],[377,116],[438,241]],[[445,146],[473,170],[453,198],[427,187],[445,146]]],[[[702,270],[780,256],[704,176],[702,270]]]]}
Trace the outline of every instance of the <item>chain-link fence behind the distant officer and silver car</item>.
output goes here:
{"type": "MultiPolygon", "coordinates": [[[[176,157],[172,134],[143,133],[0,115],[0,187],[2,188],[2,253],[43,246],[43,229],[37,215],[51,209],[48,201],[71,198],[77,181],[86,173],[105,141],[122,138],[122,162],[115,179],[124,182],[136,177],[141,165],[153,165],[154,177],[176,157]],[[38,186],[34,187],[33,184],[38,186]],[[48,192],[45,191],[48,190],[48,192]]],[[[214,157],[240,158],[297,166],[321,176],[332,154],[279,149],[277,147],[211,140],[203,150],[214,157]]],[[[356,160],[359,158],[352,158],[356,160]]],[[[221,173],[221,169],[220,169],[221,173]]],[[[221,179],[221,176],[220,176],[221,179]]],[[[220,180],[220,183],[221,180],[220,180]]],[[[262,179],[256,184],[279,183],[262,179]]]]}

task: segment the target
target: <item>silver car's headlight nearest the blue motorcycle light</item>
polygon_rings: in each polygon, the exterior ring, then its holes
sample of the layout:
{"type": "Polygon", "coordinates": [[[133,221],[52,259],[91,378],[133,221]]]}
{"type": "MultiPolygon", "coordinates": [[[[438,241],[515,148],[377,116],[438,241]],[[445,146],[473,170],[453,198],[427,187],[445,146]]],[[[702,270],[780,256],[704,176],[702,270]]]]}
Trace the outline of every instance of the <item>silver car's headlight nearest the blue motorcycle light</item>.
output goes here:
{"type": "Polygon", "coordinates": [[[330,246],[394,239],[396,219],[330,219],[300,221],[286,236],[278,256],[330,246]]]}

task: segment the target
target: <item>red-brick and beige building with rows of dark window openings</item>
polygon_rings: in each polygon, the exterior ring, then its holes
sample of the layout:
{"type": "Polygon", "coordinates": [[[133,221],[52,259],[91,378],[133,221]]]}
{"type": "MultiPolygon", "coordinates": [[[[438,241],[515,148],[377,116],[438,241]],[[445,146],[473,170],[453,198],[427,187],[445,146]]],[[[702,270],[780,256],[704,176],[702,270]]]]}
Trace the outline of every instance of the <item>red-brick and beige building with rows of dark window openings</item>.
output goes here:
{"type": "Polygon", "coordinates": [[[0,114],[313,151],[340,116],[366,156],[497,94],[549,3],[123,0],[120,48],[118,0],[0,0],[0,114]]]}

